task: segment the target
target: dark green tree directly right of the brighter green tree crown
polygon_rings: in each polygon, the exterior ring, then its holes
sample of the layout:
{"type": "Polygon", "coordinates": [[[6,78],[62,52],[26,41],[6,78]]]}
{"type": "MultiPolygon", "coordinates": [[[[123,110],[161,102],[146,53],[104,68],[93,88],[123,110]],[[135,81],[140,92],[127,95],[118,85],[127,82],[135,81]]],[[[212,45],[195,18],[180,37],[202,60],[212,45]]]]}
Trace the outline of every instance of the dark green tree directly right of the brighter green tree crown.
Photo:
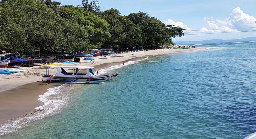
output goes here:
{"type": "Polygon", "coordinates": [[[98,16],[110,24],[111,39],[104,44],[104,48],[115,51],[132,50],[141,42],[141,30],[127,17],[121,16],[116,9],[97,12],[98,16]]]}

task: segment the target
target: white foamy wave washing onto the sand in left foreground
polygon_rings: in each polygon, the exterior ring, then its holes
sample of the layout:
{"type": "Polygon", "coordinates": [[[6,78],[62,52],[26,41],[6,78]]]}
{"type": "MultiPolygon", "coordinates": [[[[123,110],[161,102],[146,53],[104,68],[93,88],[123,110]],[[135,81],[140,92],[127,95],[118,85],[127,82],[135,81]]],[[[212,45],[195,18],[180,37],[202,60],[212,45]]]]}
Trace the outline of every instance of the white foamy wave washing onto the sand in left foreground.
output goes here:
{"type": "Polygon", "coordinates": [[[58,112],[60,108],[66,105],[66,102],[70,96],[70,92],[72,92],[72,89],[74,89],[72,87],[68,87],[70,88],[68,89],[64,86],[66,85],[50,88],[46,93],[40,95],[39,100],[44,102],[44,105],[36,107],[34,112],[26,114],[18,119],[8,120],[7,123],[0,124],[0,135],[11,133],[33,121],[42,119],[48,115],[52,115],[55,114],[55,112],[58,112]]]}

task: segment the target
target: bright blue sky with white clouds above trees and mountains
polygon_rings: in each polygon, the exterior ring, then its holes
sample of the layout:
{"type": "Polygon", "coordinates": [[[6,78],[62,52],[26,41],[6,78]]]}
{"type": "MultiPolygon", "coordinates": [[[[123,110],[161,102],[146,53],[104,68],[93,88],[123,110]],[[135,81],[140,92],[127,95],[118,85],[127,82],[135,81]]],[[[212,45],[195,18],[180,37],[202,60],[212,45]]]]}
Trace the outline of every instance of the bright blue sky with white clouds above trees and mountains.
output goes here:
{"type": "MultiPolygon", "coordinates": [[[[82,0],[56,1],[74,6],[82,3],[82,0]]],[[[97,1],[101,11],[115,8],[121,15],[147,12],[165,24],[185,28],[185,36],[174,41],[256,37],[256,0],[97,1]]]]}

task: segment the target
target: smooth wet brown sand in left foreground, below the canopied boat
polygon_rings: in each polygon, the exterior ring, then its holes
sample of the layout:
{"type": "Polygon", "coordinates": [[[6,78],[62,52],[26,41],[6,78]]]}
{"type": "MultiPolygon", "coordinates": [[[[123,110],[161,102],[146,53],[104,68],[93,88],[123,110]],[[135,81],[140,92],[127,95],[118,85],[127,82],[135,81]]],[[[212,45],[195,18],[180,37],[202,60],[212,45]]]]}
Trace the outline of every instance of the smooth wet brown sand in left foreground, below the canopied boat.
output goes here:
{"type": "Polygon", "coordinates": [[[38,96],[56,86],[58,84],[33,82],[0,92],[0,122],[33,112],[35,107],[43,105],[38,96]]]}

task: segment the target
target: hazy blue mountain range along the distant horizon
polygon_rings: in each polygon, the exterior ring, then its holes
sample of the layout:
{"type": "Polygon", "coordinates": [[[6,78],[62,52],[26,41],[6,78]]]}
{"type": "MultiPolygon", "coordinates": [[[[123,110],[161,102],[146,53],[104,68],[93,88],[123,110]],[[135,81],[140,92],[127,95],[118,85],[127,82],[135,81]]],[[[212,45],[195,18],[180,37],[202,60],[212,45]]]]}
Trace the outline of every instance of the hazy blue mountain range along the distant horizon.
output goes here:
{"type": "Polygon", "coordinates": [[[256,37],[248,37],[248,38],[241,38],[241,39],[212,39],[212,40],[203,40],[203,41],[177,41],[174,42],[175,44],[179,45],[188,45],[188,44],[221,44],[221,43],[234,43],[234,42],[250,42],[256,41],[256,37]]]}

